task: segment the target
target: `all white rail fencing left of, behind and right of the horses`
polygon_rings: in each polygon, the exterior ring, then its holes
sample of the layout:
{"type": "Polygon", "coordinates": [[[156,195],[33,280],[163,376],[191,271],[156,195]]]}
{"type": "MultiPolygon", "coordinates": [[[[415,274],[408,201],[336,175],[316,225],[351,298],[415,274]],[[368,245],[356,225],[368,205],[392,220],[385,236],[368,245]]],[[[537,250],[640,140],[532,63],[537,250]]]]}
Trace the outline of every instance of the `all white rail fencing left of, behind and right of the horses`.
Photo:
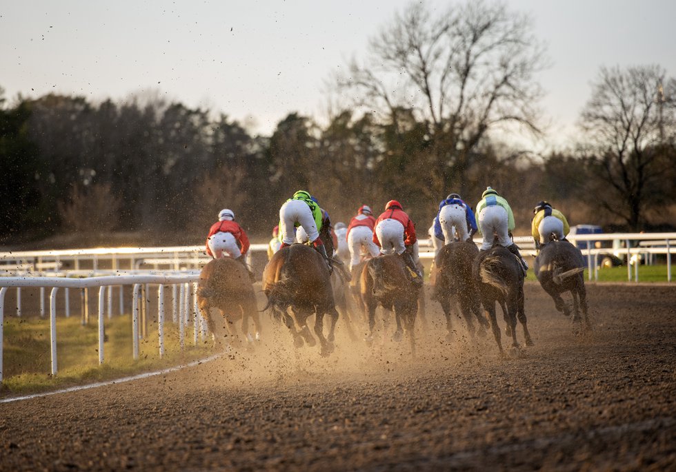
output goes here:
{"type": "MultiPolygon", "coordinates": [[[[658,254],[666,255],[667,280],[671,281],[671,256],[673,243],[676,242],[676,233],[654,234],[587,234],[576,235],[569,238],[572,243],[582,243],[582,250],[588,261],[588,277],[598,280],[599,257],[615,252],[617,249],[599,247],[603,241],[619,240],[624,243],[624,249],[619,254],[626,256],[629,262],[627,278],[629,281],[639,280],[639,258],[658,254]]],[[[535,256],[535,247],[530,236],[517,236],[515,243],[521,246],[524,256],[535,256]]],[[[479,239],[475,243],[480,244],[479,239]]],[[[434,249],[430,240],[420,240],[420,257],[433,258],[434,249]]],[[[267,245],[254,244],[250,247],[248,263],[252,263],[252,254],[266,252],[267,245]]],[[[55,251],[21,251],[0,252],[0,382],[2,381],[2,347],[3,347],[3,320],[4,299],[6,291],[14,287],[17,289],[17,316],[21,316],[21,288],[39,287],[40,314],[45,315],[45,289],[50,288],[50,343],[52,356],[52,374],[57,373],[57,332],[56,296],[59,289],[64,289],[66,316],[70,316],[70,303],[68,289],[81,289],[83,297],[88,294],[87,290],[99,288],[98,321],[99,321],[99,364],[103,363],[103,339],[104,318],[106,308],[108,317],[112,316],[112,289],[119,287],[119,311],[123,314],[123,287],[132,286],[132,338],[135,359],[139,356],[139,294],[144,289],[148,291],[149,285],[157,285],[158,296],[158,331],[159,331],[159,354],[164,353],[164,287],[172,286],[173,320],[179,323],[179,342],[181,348],[184,345],[186,326],[188,325],[188,307],[192,297],[192,324],[194,326],[193,338],[195,344],[200,336],[204,336],[203,320],[199,316],[196,305],[195,291],[199,273],[196,268],[206,264],[210,258],[204,253],[204,247],[179,246],[179,247],[123,247],[123,248],[100,248],[100,249],[70,249],[55,251]],[[150,266],[157,270],[171,270],[172,273],[153,274],[149,273],[150,266]],[[72,278],[72,277],[85,278],[72,278]],[[192,289],[190,289],[192,287],[192,289]],[[180,292],[179,292],[180,291],[180,292]],[[106,300],[107,292],[107,300],[106,300]]],[[[144,297],[147,303],[148,295],[144,297]]],[[[83,300],[83,307],[88,307],[88,300],[83,300]]],[[[84,309],[84,308],[83,308],[84,309]]],[[[88,316],[86,312],[83,316],[88,316]]]]}

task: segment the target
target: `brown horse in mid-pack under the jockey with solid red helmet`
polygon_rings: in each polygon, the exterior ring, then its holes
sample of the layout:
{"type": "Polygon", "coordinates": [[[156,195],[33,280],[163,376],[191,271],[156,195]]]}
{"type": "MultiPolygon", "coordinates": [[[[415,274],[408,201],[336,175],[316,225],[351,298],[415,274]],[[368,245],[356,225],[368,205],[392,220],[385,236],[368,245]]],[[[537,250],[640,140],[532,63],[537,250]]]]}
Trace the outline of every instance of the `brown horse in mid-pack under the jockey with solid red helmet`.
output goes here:
{"type": "Polygon", "coordinates": [[[379,256],[366,262],[361,271],[361,299],[368,314],[369,335],[372,342],[375,327],[375,309],[381,305],[395,312],[397,331],[394,340],[401,340],[402,331],[410,342],[411,354],[415,355],[415,316],[421,287],[408,276],[406,263],[396,254],[379,256]]]}

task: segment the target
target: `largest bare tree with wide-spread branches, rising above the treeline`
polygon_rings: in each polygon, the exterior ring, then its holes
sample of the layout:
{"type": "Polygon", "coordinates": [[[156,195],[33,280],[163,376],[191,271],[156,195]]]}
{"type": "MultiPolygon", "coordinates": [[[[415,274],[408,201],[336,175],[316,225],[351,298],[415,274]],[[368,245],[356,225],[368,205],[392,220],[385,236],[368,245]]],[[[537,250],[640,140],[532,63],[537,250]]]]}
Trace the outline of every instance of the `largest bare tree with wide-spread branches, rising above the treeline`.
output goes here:
{"type": "Polygon", "coordinates": [[[466,189],[491,130],[539,133],[533,74],[545,65],[530,18],[504,3],[468,1],[439,14],[415,2],[371,39],[367,59],[353,60],[338,85],[390,123],[412,110],[427,124],[430,146],[420,158],[429,162],[416,167],[431,170],[425,191],[439,196],[448,185],[466,189]]]}

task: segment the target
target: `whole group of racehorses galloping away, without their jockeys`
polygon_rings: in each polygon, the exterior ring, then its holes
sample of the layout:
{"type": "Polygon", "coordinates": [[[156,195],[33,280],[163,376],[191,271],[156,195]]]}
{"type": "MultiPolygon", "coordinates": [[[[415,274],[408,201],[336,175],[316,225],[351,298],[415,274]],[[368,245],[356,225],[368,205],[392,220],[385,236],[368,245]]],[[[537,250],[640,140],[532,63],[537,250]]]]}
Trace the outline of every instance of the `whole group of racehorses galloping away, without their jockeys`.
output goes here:
{"type": "MultiPolygon", "coordinates": [[[[327,241],[326,252],[331,256],[334,248],[332,238],[327,236],[322,235],[322,239],[327,241]]],[[[517,320],[523,327],[526,345],[533,345],[524,312],[524,271],[514,254],[500,245],[479,252],[472,242],[456,241],[441,249],[434,267],[434,273],[430,274],[432,297],[439,302],[446,316],[448,338],[453,333],[451,320],[453,305],[457,303],[470,336],[475,336],[475,318],[479,323],[479,334],[485,334],[490,326],[499,351],[504,355],[496,318],[497,303],[503,311],[506,334],[512,338],[513,348],[519,347],[517,320]]],[[[355,320],[350,320],[347,309],[349,285],[354,300],[366,316],[368,331],[364,327],[364,338],[367,344],[373,340],[375,313],[381,306],[394,313],[397,324],[394,340],[401,340],[406,334],[410,351],[415,354],[415,320],[421,311],[424,294],[423,287],[411,280],[407,270],[404,260],[392,254],[364,261],[352,270],[351,275],[344,270],[331,272],[315,249],[293,244],[276,252],[263,271],[262,289],[267,297],[263,311],[269,310],[275,320],[284,322],[295,347],[305,343],[312,347],[319,340],[321,356],[328,356],[334,350],[339,318],[344,318],[350,337],[357,338],[355,320]],[[316,338],[308,327],[308,318],[313,315],[316,338]],[[326,336],[325,315],[330,320],[326,336]]],[[[566,240],[552,240],[535,258],[535,274],[555,300],[556,308],[565,315],[570,314],[561,298],[562,292],[570,291],[575,312],[573,321],[579,326],[584,320],[584,327],[590,329],[583,270],[584,260],[579,249],[566,240]]],[[[199,309],[217,339],[228,337],[231,343],[239,342],[235,329],[239,323],[241,334],[249,342],[259,338],[261,323],[255,291],[246,268],[237,261],[230,258],[210,261],[201,272],[197,298],[199,309]],[[255,334],[249,334],[249,318],[255,326],[255,334]]]]}

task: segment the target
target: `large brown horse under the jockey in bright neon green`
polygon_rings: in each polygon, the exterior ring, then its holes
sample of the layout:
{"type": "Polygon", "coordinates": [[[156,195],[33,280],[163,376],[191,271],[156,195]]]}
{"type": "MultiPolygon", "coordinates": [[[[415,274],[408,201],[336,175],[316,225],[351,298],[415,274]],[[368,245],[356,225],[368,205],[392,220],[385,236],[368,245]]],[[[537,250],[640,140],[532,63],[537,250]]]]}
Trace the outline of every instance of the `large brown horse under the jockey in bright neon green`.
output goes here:
{"type": "Polygon", "coordinates": [[[307,325],[308,317],[315,314],[321,356],[333,351],[338,311],[326,261],[315,249],[293,244],[277,251],[263,271],[263,291],[268,297],[264,310],[270,308],[275,318],[284,320],[296,347],[304,341],[309,346],[317,344],[307,325]],[[324,337],[325,314],[331,316],[328,339],[324,337]]]}

